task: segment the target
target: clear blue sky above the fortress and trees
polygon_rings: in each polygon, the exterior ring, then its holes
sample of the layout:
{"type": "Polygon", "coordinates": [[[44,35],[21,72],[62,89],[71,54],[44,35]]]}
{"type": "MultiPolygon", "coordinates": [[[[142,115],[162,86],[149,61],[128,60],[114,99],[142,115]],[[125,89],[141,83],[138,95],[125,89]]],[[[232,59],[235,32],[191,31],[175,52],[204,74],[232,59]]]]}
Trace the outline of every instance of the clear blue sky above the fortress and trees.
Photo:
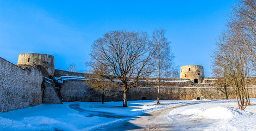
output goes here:
{"type": "Polygon", "coordinates": [[[235,0],[183,1],[3,1],[0,57],[17,63],[20,53],[55,56],[55,68],[70,63],[79,72],[94,40],[127,29],[152,35],[163,27],[176,66],[198,64],[211,76],[211,53],[235,0]]]}

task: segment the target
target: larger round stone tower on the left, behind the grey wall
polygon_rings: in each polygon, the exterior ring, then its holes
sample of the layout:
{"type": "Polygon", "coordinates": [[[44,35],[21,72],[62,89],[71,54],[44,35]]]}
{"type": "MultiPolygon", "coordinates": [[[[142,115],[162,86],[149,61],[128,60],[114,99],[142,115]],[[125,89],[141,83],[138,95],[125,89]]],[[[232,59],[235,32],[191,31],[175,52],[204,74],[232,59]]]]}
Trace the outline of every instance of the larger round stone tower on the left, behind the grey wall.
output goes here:
{"type": "Polygon", "coordinates": [[[32,66],[50,78],[55,72],[54,56],[43,53],[21,53],[17,65],[20,67],[32,66]]]}

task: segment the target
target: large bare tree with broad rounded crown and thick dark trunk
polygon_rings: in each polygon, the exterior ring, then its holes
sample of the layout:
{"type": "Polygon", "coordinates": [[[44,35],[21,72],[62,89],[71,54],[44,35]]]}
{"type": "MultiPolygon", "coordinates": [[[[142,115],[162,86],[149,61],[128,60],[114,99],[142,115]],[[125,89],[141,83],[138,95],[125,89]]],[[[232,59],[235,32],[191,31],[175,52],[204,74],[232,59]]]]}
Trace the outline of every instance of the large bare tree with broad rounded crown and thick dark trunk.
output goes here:
{"type": "Polygon", "coordinates": [[[140,78],[152,72],[152,49],[145,32],[110,31],[94,41],[92,61],[111,70],[110,75],[123,89],[123,107],[127,107],[127,92],[138,85],[140,78]]]}

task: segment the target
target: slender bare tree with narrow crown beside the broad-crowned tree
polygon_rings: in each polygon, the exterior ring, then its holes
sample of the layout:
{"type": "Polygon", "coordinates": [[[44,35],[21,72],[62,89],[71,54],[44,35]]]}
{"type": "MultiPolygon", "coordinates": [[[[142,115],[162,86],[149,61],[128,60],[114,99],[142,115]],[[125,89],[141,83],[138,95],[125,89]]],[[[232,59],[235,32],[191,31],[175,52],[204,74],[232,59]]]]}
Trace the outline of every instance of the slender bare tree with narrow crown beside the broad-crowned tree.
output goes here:
{"type": "Polygon", "coordinates": [[[158,79],[157,104],[160,104],[160,81],[171,73],[170,69],[172,67],[174,56],[171,53],[170,42],[167,41],[165,30],[163,28],[154,30],[152,44],[155,49],[152,58],[154,61],[154,68],[157,70],[155,76],[157,76],[158,79]]]}

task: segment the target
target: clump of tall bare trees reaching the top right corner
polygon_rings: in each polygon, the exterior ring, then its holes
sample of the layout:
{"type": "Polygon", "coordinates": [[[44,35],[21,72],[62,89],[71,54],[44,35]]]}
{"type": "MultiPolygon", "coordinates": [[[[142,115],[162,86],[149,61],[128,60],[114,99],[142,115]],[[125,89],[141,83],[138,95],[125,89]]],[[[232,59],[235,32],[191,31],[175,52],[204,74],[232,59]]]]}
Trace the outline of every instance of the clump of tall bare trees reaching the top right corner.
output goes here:
{"type": "Polygon", "coordinates": [[[230,13],[225,31],[219,37],[213,53],[213,72],[232,86],[237,105],[250,105],[248,82],[255,73],[256,62],[256,2],[239,1],[230,13]]]}

